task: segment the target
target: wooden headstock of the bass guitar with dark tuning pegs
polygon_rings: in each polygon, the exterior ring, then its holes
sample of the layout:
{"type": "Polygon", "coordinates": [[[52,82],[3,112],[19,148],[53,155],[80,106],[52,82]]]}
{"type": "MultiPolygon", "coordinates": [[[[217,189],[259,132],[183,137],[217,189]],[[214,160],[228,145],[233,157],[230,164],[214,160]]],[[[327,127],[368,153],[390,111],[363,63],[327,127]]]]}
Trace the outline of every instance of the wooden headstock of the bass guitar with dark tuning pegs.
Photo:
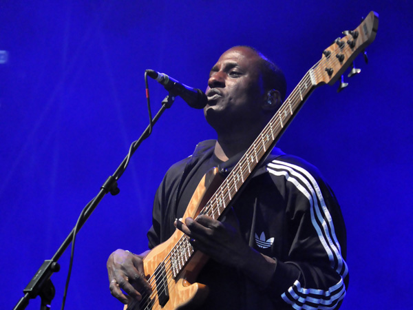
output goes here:
{"type": "Polygon", "coordinates": [[[372,11],[359,27],[344,32],[345,37],[336,39],[335,43],[326,48],[321,60],[313,67],[315,85],[334,84],[357,55],[374,41],[378,26],[379,14],[372,11]]]}

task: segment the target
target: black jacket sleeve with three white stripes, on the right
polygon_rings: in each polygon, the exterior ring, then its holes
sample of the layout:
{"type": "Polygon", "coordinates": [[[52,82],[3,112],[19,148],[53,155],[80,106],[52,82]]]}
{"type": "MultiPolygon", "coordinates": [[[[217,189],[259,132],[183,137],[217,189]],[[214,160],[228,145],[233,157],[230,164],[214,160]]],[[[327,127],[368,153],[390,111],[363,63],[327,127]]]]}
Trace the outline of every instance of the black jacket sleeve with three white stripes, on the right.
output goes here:
{"type": "Polygon", "coordinates": [[[275,292],[290,309],[338,309],[346,295],[348,267],[337,200],[314,167],[279,161],[273,168],[284,182],[290,245],[286,260],[275,258],[266,291],[275,292]]]}

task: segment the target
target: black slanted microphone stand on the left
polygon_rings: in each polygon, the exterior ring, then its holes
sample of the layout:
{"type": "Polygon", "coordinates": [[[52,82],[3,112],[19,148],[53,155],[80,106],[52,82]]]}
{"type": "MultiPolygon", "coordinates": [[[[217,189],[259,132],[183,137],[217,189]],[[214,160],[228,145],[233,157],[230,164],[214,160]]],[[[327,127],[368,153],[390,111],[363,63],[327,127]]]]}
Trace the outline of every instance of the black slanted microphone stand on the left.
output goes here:
{"type": "MultiPolygon", "coordinates": [[[[162,101],[162,107],[160,107],[160,110],[153,118],[152,125],[154,125],[156,121],[158,121],[158,119],[166,109],[171,107],[174,101],[174,94],[169,92],[169,94],[162,101]]],[[[50,304],[52,303],[55,293],[54,285],[52,283],[52,280],[50,280],[50,277],[54,272],[60,270],[60,265],[57,261],[65,252],[67,247],[69,247],[70,243],[73,240],[73,237],[77,235],[78,231],[83,227],[83,224],[85,224],[86,220],[92,214],[94,209],[96,209],[96,207],[100,203],[100,200],[102,200],[103,197],[105,197],[105,195],[109,192],[112,195],[117,195],[120,192],[120,189],[118,189],[117,180],[119,180],[120,176],[122,176],[123,172],[125,172],[125,165],[129,163],[130,157],[134,154],[136,149],[138,149],[140,143],[142,143],[142,141],[144,141],[145,138],[149,136],[150,132],[151,125],[148,125],[145,132],[142,133],[140,138],[132,143],[129,154],[119,165],[118,169],[116,169],[114,175],[107,178],[105,183],[103,183],[103,185],[100,187],[100,192],[98,193],[98,195],[93,198],[83,209],[81,218],[76,225],[77,229],[76,226],[74,227],[74,229],[72,229],[69,236],[67,236],[65,241],[63,241],[63,244],[61,245],[61,247],[59,247],[59,249],[56,251],[56,254],[54,254],[51,260],[45,260],[43,262],[39,270],[34,274],[32,280],[30,280],[28,286],[23,289],[23,293],[25,293],[25,295],[19,300],[13,310],[25,309],[25,307],[28,306],[30,299],[34,299],[37,296],[41,297],[41,310],[50,309],[50,304]]]]}

